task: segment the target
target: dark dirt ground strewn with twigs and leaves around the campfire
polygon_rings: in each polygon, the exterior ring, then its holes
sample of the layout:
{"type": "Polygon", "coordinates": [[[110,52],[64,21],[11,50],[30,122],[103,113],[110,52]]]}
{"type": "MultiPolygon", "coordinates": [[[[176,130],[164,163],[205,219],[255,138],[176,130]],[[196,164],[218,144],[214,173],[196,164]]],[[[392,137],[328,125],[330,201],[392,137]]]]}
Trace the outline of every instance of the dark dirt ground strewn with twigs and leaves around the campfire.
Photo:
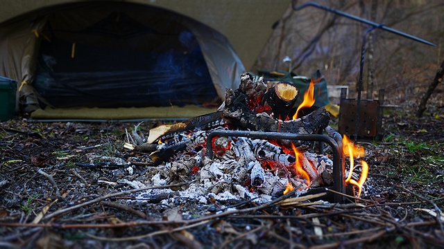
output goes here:
{"type": "Polygon", "coordinates": [[[423,118],[414,105],[384,111],[382,140],[359,142],[370,167],[364,190],[345,204],[210,195],[203,204],[157,188],[141,197],[123,179],[142,181],[143,163],[87,167],[94,156],[143,162],[123,148],[137,123],[2,122],[0,248],[443,248],[442,99],[434,94],[423,118]]]}

